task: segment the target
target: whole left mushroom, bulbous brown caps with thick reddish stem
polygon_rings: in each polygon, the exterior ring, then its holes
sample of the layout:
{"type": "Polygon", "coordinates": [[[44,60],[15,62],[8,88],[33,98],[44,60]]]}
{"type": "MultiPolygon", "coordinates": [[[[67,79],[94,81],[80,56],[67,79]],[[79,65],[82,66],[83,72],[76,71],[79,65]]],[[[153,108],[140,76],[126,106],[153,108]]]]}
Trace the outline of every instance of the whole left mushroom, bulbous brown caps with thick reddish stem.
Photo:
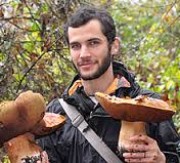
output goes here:
{"type": "Polygon", "coordinates": [[[45,113],[41,94],[26,91],[14,101],[0,103],[0,146],[4,145],[11,163],[37,162],[42,149],[34,136],[43,136],[61,127],[66,118],[45,113]]]}

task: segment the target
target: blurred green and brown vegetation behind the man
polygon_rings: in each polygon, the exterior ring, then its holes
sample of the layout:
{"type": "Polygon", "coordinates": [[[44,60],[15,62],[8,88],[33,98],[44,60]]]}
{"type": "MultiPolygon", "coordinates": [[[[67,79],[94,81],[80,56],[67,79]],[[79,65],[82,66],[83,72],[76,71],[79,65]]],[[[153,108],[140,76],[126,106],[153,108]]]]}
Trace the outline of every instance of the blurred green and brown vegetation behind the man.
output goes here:
{"type": "Polygon", "coordinates": [[[62,26],[84,4],[109,10],[121,39],[117,59],[142,87],[169,97],[180,133],[179,0],[0,0],[0,102],[28,89],[47,103],[62,93],[75,73],[62,26]]]}

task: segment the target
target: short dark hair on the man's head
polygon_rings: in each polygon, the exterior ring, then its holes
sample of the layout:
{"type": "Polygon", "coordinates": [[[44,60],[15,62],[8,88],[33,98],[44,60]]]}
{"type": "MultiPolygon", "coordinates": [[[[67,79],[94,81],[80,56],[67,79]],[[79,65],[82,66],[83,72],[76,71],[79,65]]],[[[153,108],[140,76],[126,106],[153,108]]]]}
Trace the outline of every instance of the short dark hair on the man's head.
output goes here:
{"type": "Polygon", "coordinates": [[[111,44],[116,37],[116,29],[114,20],[111,15],[105,10],[93,6],[80,7],[64,25],[64,35],[66,42],[69,44],[68,28],[77,28],[85,25],[90,20],[96,19],[101,23],[102,33],[111,44]]]}

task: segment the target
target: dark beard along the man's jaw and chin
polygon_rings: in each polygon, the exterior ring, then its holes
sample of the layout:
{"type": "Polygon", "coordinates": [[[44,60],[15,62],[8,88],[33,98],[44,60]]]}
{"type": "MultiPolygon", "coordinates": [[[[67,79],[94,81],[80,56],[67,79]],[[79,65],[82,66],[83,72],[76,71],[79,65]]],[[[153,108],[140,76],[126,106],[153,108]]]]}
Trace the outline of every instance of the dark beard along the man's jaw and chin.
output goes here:
{"type": "Polygon", "coordinates": [[[77,70],[79,76],[83,79],[83,80],[94,80],[99,78],[101,75],[103,75],[107,69],[109,68],[110,64],[112,62],[112,57],[111,55],[108,53],[108,55],[103,59],[101,67],[99,67],[99,69],[92,75],[89,76],[82,76],[82,74],[78,71],[78,69],[76,68],[76,66],[74,65],[75,69],[77,70]]]}

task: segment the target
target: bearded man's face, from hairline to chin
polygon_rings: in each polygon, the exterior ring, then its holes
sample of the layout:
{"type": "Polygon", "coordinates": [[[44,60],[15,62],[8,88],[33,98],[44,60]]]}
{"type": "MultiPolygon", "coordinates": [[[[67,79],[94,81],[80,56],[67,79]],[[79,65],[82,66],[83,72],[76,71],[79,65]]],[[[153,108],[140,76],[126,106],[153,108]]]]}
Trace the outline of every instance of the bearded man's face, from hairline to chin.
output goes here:
{"type": "Polygon", "coordinates": [[[68,29],[70,54],[83,80],[99,78],[111,64],[112,56],[107,38],[98,20],[68,29]]]}

